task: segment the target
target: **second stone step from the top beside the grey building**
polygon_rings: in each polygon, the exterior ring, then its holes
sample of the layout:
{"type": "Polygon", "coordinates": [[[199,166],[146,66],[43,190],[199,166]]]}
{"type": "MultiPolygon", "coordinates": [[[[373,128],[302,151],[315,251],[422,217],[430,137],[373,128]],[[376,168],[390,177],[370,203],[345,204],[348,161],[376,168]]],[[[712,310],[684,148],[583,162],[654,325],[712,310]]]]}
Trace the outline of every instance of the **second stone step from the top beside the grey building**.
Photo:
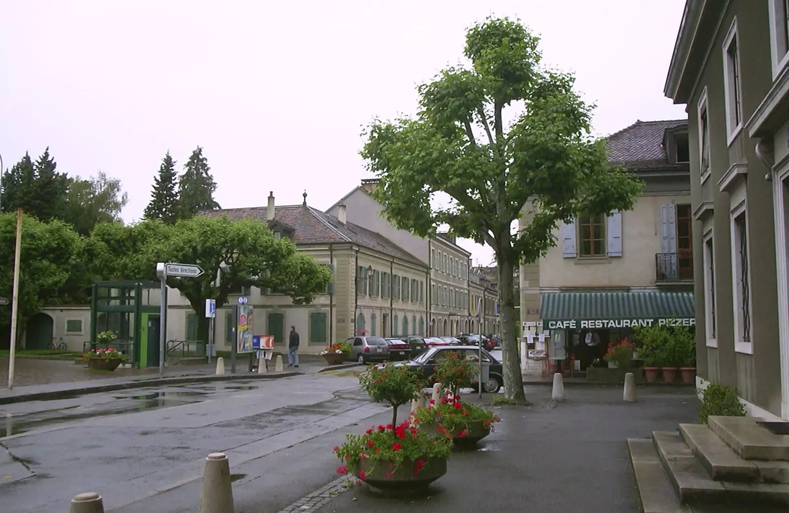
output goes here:
{"type": "Polygon", "coordinates": [[[679,434],[713,481],[789,483],[789,462],[742,459],[706,425],[680,424],[679,434]]]}

